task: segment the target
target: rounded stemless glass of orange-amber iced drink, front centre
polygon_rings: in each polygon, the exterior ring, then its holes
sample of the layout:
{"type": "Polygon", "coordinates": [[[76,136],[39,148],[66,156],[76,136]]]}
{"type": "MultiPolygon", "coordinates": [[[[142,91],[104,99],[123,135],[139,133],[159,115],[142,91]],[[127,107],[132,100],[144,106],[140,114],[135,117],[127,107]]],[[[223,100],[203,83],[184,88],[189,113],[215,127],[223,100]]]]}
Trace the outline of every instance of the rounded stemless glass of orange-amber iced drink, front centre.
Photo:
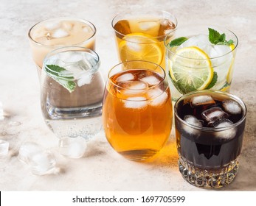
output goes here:
{"type": "Polygon", "coordinates": [[[160,151],[170,135],[172,102],[165,71],[146,61],[127,61],[108,73],[103,128],[115,151],[145,160],[160,151]]]}

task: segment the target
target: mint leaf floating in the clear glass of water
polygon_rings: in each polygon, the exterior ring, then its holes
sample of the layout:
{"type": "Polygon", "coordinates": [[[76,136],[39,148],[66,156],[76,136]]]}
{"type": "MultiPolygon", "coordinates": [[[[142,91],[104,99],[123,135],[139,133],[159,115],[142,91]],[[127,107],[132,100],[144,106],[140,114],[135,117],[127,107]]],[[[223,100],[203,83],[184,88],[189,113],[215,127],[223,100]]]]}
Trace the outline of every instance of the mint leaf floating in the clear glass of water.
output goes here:
{"type": "Polygon", "coordinates": [[[59,65],[46,65],[45,71],[49,74],[49,77],[55,79],[60,85],[69,90],[70,93],[75,90],[76,84],[73,81],[74,77],[67,76],[65,73],[66,68],[60,67],[59,65]]]}

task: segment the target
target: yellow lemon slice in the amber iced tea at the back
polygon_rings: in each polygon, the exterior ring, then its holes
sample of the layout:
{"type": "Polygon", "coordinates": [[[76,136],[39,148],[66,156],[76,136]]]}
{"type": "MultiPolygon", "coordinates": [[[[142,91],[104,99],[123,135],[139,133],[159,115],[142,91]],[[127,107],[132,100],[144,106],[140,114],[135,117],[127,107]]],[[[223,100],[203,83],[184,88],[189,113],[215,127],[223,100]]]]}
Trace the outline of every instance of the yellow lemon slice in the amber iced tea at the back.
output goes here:
{"type": "Polygon", "coordinates": [[[121,60],[145,60],[161,64],[163,54],[159,43],[151,35],[140,32],[125,35],[119,44],[121,60]]]}

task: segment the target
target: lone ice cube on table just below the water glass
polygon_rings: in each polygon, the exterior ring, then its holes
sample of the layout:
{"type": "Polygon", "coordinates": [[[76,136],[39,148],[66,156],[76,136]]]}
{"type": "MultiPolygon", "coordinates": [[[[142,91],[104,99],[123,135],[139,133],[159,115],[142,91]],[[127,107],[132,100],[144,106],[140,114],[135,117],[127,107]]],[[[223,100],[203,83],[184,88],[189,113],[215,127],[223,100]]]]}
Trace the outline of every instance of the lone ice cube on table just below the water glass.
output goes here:
{"type": "Polygon", "coordinates": [[[87,144],[82,137],[63,137],[59,141],[59,152],[69,158],[80,158],[86,152],[87,144]]]}

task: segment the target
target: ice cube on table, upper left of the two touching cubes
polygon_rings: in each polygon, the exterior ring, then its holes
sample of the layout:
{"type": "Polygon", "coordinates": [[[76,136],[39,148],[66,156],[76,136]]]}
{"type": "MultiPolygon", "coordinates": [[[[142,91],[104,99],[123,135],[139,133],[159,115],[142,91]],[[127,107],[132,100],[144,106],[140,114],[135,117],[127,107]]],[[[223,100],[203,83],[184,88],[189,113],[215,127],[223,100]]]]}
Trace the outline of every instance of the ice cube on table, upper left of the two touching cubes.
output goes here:
{"type": "Polygon", "coordinates": [[[43,149],[37,143],[26,142],[23,143],[18,151],[18,160],[23,163],[29,163],[30,158],[37,152],[42,152],[43,149]]]}

